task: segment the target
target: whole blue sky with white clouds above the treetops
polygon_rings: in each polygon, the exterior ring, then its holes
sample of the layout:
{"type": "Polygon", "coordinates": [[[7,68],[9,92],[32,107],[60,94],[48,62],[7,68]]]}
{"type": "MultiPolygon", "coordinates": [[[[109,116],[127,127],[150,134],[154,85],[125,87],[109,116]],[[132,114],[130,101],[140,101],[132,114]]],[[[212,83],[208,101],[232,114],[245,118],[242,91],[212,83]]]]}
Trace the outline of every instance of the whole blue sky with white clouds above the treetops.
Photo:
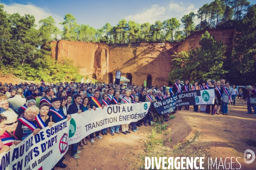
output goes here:
{"type": "MultiPolygon", "coordinates": [[[[0,0],[4,10],[20,15],[32,14],[35,23],[52,16],[56,26],[64,21],[67,13],[77,18],[78,24],[101,28],[105,23],[115,26],[119,20],[134,20],[137,23],[151,23],[168,18],[181,17],[190,12],[197,13],[198,8],[213,0],[0,0]]],[[[256,0],[249,0],[256,4],[256,0]]]]}

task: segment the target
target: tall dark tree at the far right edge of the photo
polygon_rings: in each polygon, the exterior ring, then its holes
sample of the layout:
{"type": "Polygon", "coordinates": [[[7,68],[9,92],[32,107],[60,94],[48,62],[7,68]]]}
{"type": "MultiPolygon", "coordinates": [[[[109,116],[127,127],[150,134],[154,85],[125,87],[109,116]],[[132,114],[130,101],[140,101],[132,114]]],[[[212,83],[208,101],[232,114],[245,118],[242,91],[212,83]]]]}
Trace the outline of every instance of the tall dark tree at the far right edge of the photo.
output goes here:
{"type": "Polygon", "coordinates": [[[256,5],[238,23],[236,46],[232,53],[230,76],[241,83],[255,83],[256,77],[256,5]]]}

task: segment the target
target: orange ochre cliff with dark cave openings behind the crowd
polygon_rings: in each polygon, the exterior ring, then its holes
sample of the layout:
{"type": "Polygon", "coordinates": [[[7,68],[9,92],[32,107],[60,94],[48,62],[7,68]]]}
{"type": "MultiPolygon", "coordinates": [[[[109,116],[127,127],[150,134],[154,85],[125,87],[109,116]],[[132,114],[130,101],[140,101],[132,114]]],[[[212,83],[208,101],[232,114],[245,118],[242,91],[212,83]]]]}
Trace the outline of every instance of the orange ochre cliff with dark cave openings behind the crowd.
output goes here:
{"type": "MultiPolygon", "coordinates": [[[[175,52],[189,51],[199,47],[199,40],[205,30],[198,31],[185,41],[162,43],[133,43],[106,45],[105,43],[74,42],[59,40],[51,42],[52,58],[73,59],[79,64],[80,73],[100,82],[113,82],[116,71],[136,85],[169,85],[168,74],[171,71],[172,55],[175,52]]],[[[227,45],[227,51],[233,48],[233,28],[209,29],[217,41],[227,45]]]]}

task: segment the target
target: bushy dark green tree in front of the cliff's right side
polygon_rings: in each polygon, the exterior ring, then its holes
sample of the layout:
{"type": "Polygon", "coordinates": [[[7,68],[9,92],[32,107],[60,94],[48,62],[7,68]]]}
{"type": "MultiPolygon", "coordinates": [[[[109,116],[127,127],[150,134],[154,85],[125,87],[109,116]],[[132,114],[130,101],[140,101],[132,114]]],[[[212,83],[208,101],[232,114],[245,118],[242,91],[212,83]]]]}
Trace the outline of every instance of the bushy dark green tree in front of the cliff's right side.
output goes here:
{"type": "Polygon", "coordinates": [[[175,79],[220,79],[228,71],[224,70],[223,60],[226,46],[217,42],[208,31],[202,34],[199,41],[200,48],[189,52],[180,52],[173,55],[169,80],[175,79]]]}

